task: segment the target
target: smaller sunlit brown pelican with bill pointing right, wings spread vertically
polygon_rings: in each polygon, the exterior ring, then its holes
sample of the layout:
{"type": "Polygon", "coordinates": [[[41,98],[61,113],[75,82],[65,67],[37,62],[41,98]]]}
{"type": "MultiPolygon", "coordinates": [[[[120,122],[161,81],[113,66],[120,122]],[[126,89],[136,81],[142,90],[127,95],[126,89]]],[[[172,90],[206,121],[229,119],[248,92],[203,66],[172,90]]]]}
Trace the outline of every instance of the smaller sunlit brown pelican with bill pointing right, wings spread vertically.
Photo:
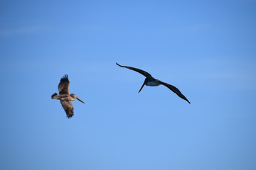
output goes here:
{"type": "Polygon", "coordinates": [[[70,82],[68,81],[68,74],[65,74],[63,78],[60,79],[60,84],[58,85],[58,94],[53,94],[51,98],[60,100],[61,105],[63,106],[65,113],[67,114],[68,118],[71,118],[74,115],[74,108],[71,103],[71,101],[75,101],[75,99],[78,99],[78,101],[83,102],[78,96],[75,96],[75,94],[68,93],[68,87],[70,82]]]}

